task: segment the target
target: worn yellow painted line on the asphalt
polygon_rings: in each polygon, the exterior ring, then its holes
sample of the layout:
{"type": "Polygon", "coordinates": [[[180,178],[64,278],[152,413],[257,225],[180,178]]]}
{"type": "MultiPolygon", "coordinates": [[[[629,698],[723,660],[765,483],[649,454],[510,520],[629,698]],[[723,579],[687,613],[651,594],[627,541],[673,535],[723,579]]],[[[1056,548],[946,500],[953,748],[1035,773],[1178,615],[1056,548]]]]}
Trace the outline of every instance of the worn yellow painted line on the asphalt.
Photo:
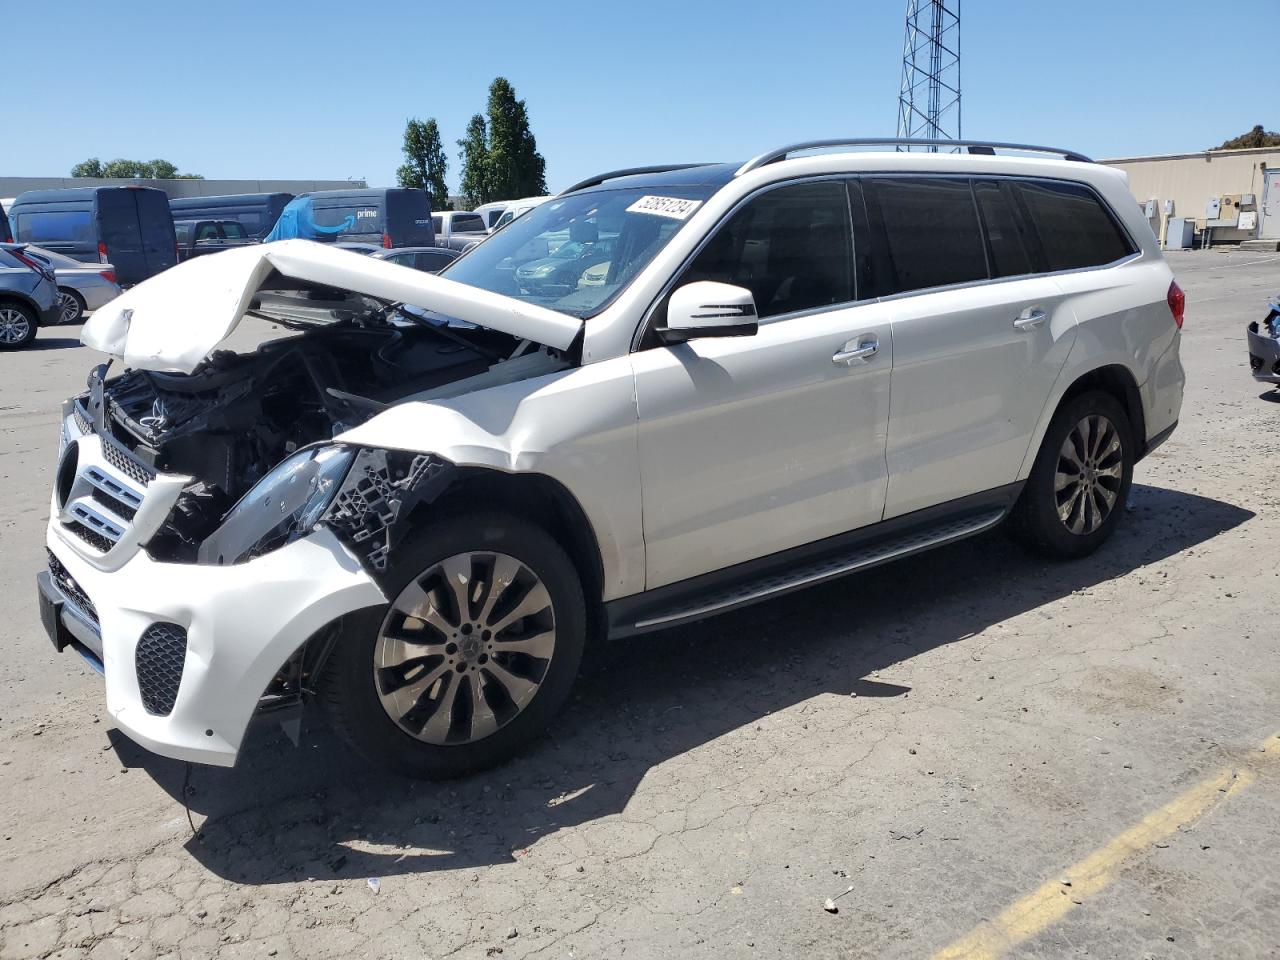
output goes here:
{"type": "MultiPolygon", "coordinates": [[[[1267,737],[1258,748],[1265,759],[1280,756],[1280,733],[1267,737]]],[[[1185,823],[1203,815],[1215,804],[1253,782],[1252,769],[1224,769],[1190,790],[1175,796],[1158,810],[1062,872],[1061,881],[1050,881],[1012,904],[993,920],[984,920],[963,940],[933,955],[933,960],[996,960],[1019,943],[1061,920],[1076,904],[1105,890],[1125,860],[1146,852],[1153,844],[1171,836],[1185,823]]]]}

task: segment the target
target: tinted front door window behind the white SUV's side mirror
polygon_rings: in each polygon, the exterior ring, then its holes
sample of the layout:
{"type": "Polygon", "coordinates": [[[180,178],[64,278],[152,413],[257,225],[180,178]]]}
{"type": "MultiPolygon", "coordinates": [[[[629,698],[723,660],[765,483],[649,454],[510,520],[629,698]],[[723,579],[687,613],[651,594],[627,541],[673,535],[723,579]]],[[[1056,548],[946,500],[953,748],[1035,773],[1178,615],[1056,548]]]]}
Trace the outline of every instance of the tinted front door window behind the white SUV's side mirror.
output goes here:
{"type": "Polygon", "coordinates": [[[780,187],[721,227],[677,285],[746,287],[762,317],[854,300],[849,198],[838,180],[780,187]]]}

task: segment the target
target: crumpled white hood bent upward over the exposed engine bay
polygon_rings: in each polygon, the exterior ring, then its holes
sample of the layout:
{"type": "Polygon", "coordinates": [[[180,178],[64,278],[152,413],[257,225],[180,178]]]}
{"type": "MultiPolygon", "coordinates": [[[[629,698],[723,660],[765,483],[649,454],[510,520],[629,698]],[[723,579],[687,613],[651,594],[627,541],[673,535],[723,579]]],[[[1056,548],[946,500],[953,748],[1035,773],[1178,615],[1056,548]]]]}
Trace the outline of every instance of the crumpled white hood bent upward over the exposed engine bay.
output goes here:
{"type": "Polygon", "coordinates": [[[209,253],[152,276],[93,312],[81,340],[125,366],[189,374],[230,335],[271,270],[294,280],[411,303],[557,349],[582,321],[408,266],[305,239],[209,253]]]}

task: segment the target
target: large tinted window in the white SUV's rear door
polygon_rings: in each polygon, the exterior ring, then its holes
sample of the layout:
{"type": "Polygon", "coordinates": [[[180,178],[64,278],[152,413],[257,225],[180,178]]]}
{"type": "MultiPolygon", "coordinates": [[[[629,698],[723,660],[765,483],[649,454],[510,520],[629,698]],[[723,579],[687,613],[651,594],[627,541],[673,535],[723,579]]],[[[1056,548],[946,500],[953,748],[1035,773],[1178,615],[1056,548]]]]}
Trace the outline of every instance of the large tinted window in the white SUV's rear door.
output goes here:
{"type": "Polygon", "coordinates": [[[987,279],[987,253],[968,180],[920,177],[864,183],[879,206],[895,291],[987,279]]]}

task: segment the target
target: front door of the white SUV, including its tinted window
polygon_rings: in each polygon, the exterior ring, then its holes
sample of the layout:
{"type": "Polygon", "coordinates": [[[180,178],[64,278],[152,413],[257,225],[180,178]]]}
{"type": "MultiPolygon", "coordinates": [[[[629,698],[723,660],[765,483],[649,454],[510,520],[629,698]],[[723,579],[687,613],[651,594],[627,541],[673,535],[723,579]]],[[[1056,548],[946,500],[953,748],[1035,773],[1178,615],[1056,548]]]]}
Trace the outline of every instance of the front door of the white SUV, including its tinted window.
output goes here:
{"type": "Polygon", "coordinates": [[[749,288],[760,328],[632,355],[648,589],[881,518],[892,343],[852,264],[846,186],[815,180],[749,201],[677,280],[749,288]]]}

